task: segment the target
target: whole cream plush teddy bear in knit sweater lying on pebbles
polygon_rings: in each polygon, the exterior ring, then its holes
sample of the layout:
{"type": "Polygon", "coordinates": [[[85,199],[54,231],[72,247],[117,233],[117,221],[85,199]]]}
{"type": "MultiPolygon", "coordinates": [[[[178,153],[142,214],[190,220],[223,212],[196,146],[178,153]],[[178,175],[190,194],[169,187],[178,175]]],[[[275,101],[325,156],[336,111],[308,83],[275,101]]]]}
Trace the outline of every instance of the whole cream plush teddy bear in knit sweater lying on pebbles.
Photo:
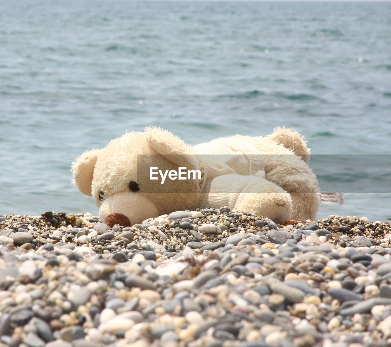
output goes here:
{"type": "Polygon", "coordinates": [[[315,219],[319,187],[309,154],[303,137],[287,128],[190,146],[148,127],[83,153],[72,171],[74,184],[93,196],[101,221],[111,227],[221,206],[282,223],[315,219]]]}

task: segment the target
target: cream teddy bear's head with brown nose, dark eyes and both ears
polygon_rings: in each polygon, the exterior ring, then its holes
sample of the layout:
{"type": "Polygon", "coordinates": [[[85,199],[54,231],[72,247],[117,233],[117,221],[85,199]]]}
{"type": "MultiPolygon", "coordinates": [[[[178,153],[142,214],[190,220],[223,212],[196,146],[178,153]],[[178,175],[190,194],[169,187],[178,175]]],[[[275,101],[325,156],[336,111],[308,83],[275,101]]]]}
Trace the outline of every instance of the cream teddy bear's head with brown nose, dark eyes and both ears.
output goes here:
{"type": "Polygon", "coordinates": [[[93,196],[103,223],[132,226],[180,206],[195,206],[197,180],[150,179],[150,167],[198,169],[191,147],[170,132],[145,128],[126,133],[106,148],[83,153],[72,163],[74,184],[93,196]]]}

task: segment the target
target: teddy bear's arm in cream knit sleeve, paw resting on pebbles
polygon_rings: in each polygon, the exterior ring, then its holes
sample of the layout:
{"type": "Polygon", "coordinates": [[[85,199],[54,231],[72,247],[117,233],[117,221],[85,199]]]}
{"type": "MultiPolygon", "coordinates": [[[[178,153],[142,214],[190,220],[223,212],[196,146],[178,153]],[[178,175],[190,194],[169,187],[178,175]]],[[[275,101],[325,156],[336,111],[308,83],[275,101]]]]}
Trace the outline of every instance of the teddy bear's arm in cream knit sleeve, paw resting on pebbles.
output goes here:
{"type": "Polygon", "coordinates": [[[237,174],[214,178],[202,205],[257,211],[275,222],[291,219],[292,213],[291,196],[281,187],[264,178],[237,174]]]}

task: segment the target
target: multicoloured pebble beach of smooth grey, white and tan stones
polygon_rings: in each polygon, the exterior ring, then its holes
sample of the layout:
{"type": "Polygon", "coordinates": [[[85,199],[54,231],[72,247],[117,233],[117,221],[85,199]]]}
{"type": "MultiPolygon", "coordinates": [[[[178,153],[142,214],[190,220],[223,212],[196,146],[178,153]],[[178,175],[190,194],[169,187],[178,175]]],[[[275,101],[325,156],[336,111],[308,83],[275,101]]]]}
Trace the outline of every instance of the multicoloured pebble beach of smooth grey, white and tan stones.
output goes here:
{"type": "Polygon", "coordinates": [[[390,224],[0,215],[0,347],[390,346],[390,224]]]}

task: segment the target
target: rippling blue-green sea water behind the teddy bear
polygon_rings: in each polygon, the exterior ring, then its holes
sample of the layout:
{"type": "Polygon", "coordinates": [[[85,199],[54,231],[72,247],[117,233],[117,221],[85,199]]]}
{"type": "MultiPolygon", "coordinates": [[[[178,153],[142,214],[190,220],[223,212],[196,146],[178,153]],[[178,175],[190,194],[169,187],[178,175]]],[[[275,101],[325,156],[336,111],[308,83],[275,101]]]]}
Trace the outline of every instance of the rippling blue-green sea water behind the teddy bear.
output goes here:
{"type": "Polygon", "coordinates": [[[0,14],[0,214],[97,214],[70,163],[125,132],[197,144],[286,126],[321,189],[346,193],[319,218],[391,217],[391,2],[2,0],[0,14]]]}

